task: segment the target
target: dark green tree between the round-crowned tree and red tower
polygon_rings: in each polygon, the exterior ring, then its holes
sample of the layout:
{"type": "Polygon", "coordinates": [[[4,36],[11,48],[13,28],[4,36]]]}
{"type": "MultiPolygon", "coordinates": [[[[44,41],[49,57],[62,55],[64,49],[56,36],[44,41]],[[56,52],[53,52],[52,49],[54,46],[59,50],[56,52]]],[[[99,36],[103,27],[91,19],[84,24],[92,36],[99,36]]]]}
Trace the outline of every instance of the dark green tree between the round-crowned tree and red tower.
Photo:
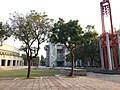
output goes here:
{"type": "Polygon", "coordinates": [[[92,66],[93,60],[100,63],[99,38],[94,26],[87,25],[83,38],[83,46],[75,50],[76,59],[90,60],[92,66]]]}

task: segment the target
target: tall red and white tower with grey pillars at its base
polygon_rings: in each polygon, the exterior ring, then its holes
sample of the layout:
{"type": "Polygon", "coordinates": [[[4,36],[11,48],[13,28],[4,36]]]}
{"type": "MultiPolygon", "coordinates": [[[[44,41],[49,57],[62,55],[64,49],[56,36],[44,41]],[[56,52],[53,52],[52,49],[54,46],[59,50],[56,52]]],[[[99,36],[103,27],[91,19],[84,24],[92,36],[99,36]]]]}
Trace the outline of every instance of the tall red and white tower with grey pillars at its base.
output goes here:
{"type": "Polygon", "coordinates": [[[101,65],[105,70],[118,69],[118,41],[113,31],[112,13],[109,0],[100,2],[102,35],[100,37],[101,65]],[[105,16],[109,18],[110,33],[106,32],[105,16]]]}

